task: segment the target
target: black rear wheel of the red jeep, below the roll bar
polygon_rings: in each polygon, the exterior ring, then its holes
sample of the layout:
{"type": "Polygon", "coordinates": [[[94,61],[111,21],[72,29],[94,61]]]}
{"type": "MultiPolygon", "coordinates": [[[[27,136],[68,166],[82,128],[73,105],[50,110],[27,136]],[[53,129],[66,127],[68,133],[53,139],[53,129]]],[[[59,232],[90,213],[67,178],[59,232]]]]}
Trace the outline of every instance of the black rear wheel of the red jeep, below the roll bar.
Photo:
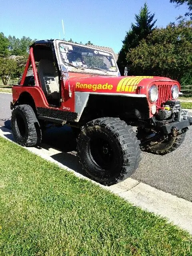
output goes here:
{"type": "Polygon", "coordinates": [[[29,105],[19,105],[12,110],[12,133],[16,142],[22,146],[37,146],[42,139],[41,129],[29,105]]]}

